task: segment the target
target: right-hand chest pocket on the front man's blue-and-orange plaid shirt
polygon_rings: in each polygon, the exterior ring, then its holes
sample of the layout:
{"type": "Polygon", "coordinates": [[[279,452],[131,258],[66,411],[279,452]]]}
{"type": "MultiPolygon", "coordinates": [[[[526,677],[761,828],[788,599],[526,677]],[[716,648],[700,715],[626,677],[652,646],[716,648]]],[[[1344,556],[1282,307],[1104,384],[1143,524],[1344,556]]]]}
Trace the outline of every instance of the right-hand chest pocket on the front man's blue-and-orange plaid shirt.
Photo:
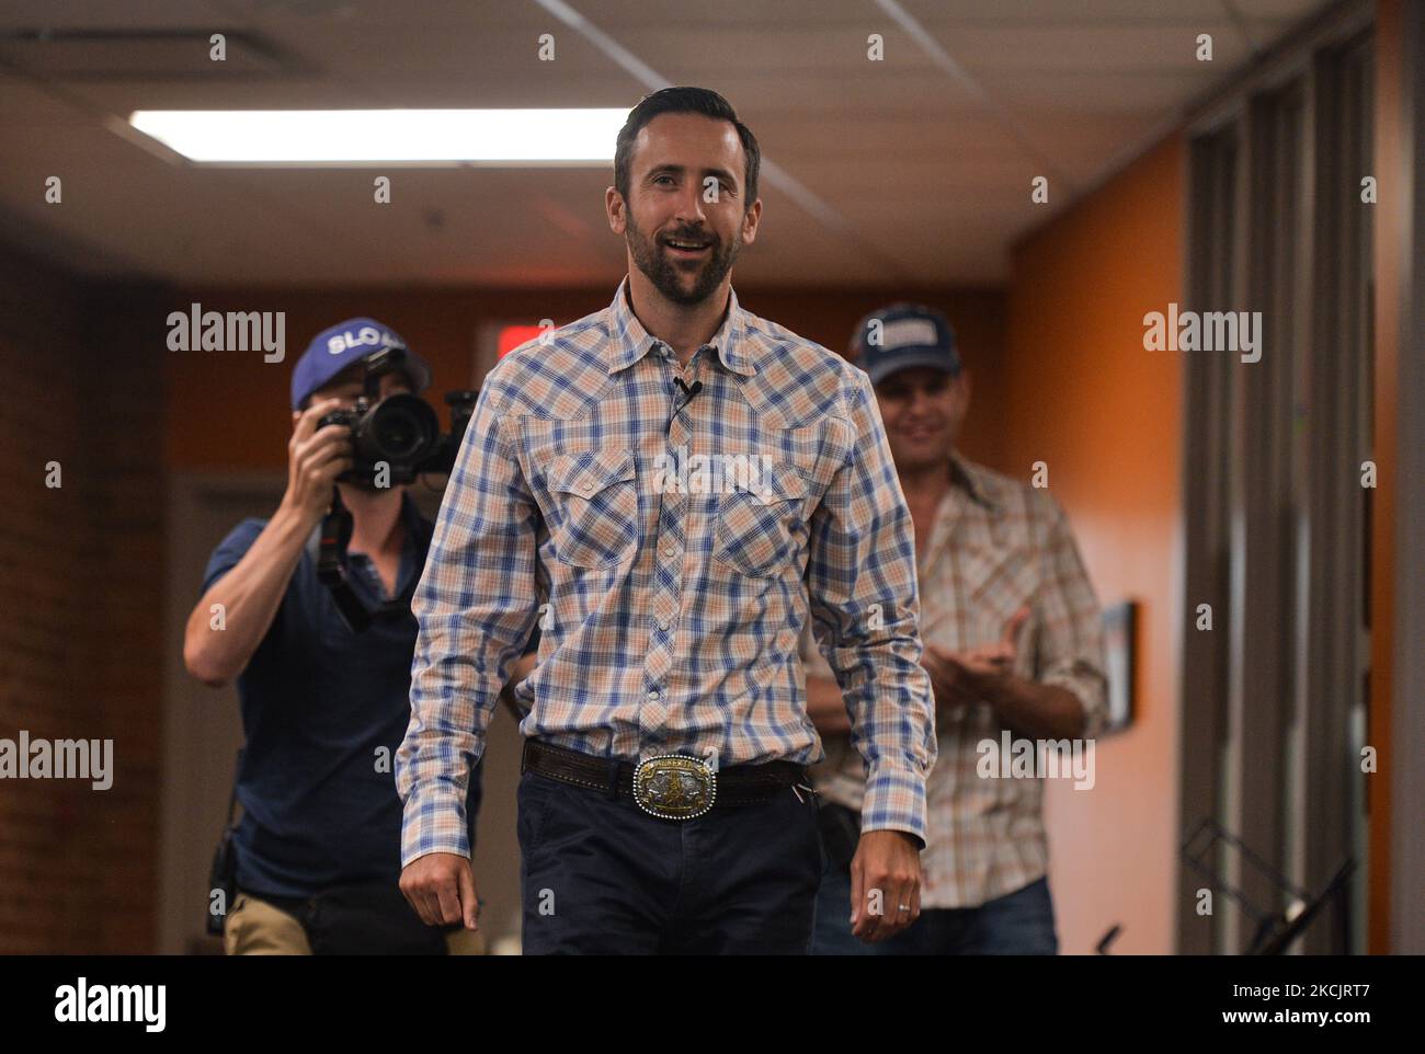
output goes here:
{"type": "Polygon", "coordinates": [[[722,494],[714,555],[742,574],[775,578],[807,544],[807,480],[789,463],[774,461],[747,490],[722,494]]]}

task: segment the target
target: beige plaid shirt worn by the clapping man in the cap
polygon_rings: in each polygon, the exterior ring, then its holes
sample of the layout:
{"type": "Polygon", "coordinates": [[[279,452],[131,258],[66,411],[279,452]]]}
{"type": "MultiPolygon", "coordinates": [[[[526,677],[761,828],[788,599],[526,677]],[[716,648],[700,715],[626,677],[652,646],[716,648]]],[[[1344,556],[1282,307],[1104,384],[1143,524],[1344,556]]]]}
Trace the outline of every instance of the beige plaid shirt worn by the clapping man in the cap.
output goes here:
{"type": "MultiPolygon", "coordinates": [[[[948,651],[992,644],[1023,605],[1015,672],[1072,691],[1089,714],[1086,736],[1107,716],[1099,602],[1069,521],[1045,490],[955,457],[919,563],[921,635],[948,651]]],[[[808,675],[831,677],[809,632],[808,675]]],[[[1047,872],[1043,779],[985,779],[983,739],[1003,726],[989,704],[936,712],[939,762],[926,783],[929,838],[921,857],[925,907],[973,907],[1047,872]]],[[[824,736],[826,761],[812,769],[831,802],[861,810],[865,766],[849,736],[824,736]]]]}

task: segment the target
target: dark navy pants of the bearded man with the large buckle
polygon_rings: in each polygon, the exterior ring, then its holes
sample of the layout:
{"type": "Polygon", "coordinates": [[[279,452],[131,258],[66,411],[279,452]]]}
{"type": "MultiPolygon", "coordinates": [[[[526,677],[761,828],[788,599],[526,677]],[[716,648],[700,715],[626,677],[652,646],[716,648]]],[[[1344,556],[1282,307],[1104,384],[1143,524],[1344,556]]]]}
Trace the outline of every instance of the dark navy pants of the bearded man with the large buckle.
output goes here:
{"type": "Polygon", "coordinates": [[[524,954],[807,954],[815,795],[663,820],[534,772],[519,786],[524,954]]]}

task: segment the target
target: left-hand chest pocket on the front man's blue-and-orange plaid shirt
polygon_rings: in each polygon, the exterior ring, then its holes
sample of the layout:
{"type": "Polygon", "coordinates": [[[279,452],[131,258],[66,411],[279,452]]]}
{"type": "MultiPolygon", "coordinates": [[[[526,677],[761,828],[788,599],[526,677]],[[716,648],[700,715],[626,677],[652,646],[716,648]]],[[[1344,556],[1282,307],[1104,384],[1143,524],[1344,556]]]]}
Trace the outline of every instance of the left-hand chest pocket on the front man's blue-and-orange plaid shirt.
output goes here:
{"type": "Polygon", "coordinates": [[[638,544],[638,473],[633,450],[559,454],[550,463],[550,537],[560,561],[611,567],[638,544]]]}

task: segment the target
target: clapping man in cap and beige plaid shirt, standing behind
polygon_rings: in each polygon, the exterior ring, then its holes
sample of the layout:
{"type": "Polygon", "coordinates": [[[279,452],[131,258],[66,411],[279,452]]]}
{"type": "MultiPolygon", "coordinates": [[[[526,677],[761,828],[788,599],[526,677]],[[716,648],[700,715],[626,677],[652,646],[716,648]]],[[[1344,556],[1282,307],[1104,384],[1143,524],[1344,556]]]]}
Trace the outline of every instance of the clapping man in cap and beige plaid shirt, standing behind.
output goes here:
{"type": "Polygon", "coordinates": [[[814,950],[1053,954],[1045,781],[1037,771],[1005,778],[999,753],[1006,729],[1012,742],[1053,741],[1060,749],[1103,728],[1099,604],[1049,493],[956,453],[970,380],[945,316],[915,305],[874,312],[854,353],[875,383],[915,520],[922,662],[935,687],[939,763],[929,781],[925,912],[869,949],[841,910],[854,886],[846,843],[865,825],[865,769],[834,672],[804,640],[808,709],[826,745],[812,775],[826,799],[832,857],[814,950]]]}

